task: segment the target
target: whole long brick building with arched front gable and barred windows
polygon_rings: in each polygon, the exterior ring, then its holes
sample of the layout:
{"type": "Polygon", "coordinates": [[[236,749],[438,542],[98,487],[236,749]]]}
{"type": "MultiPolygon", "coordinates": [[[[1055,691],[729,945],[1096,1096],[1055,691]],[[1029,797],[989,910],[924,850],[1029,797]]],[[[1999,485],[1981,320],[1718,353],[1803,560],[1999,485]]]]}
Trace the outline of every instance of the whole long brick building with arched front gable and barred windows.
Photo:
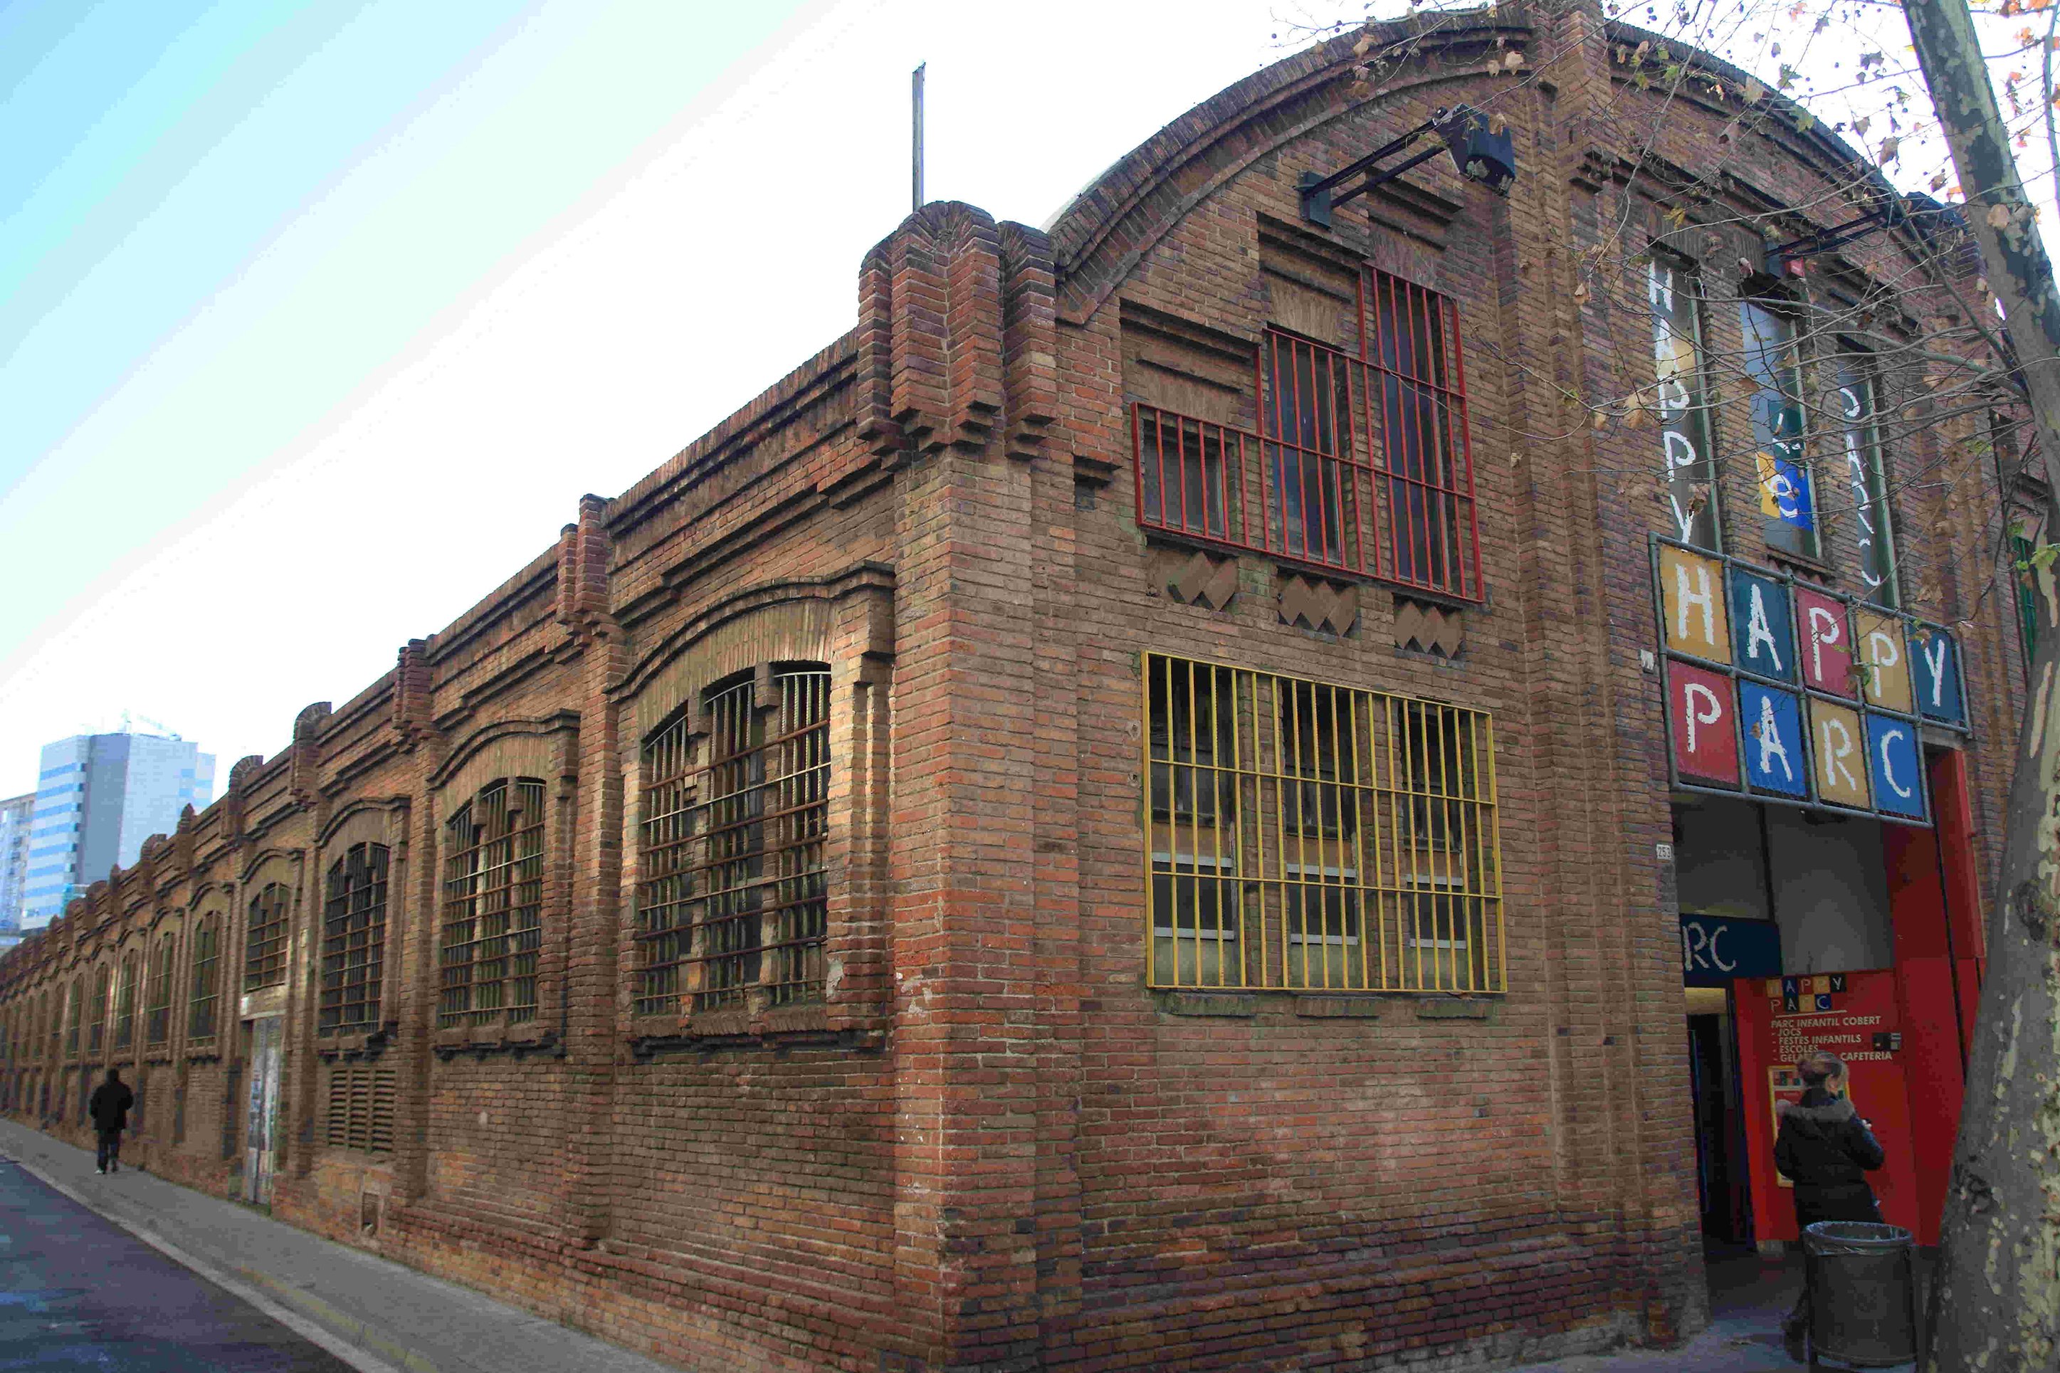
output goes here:
{"type": "MultiPolygon", "coordinates": [[[[1850,148],[1741,128],[1712,58],[1662,113],[1638,41],[1504,6],[1355,95],[1347,37],[1046,231],[925,206],[851,333],[8,953],[8,1112],[80,1140],[119,1062],[146,1167],[698,1367],[1491,1367],[1697,1328],[1753,1093],[1697,1077],[1683,912],[1759,873],[1776,972],[1893,972],[1910,1083],[1957,1103],[1920,1029],[1978,974],[2023,646],[1980,595],[2002,469],[1941,496],[1938,430],[1848,438],[1833,521],[1835,436],[1755,469],[1704,432],[1695,488],[1687,426],[1745,410],[1592,420],[1700,391],[1669,329],[1778,395],[1743,331],[1811,292],[1926,317],[1912,228],[1759,280],[1735,216],[1835,218],[1850,148]],[[1508,126],[1506,198],[1440,156],[1304,214],[1304,173],[1458,101],[1508,126]],[[1584,286],[1611,222],[1650,301],[1584,286]],[[1660,566],[1732,580],[1737,657],[1691,642],[1706,580],[1660,632],[1660,566]],[[1835,638],[1815,605],[1957,659],[1959,716],[1875,657],[1737,725],[1774,679],[1753,576],[1790,659],[1835,638]],[[1889,772],[1840,772],[1825,720],[1889,772]],[[1749,854],[1710,838],[1739,815],[1749,854]],[[1794,895],[1802,823],[1881,910],[1794,895]]],[[[1943,364],[1868,385],[1912,366],[1943,364]]],[[[1732,1056],[1749,996],[1700,1013],[1732,1056]]]]}

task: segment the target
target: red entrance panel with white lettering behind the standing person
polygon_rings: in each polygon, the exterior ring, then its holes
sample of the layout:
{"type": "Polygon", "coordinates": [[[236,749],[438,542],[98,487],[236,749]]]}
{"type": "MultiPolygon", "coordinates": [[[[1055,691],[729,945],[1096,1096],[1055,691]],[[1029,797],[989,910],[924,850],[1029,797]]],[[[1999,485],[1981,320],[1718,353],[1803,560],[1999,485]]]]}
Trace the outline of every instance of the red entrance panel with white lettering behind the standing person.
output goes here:
{"type": "MultiPolygon", "coordinates": [[[[1751,924],[1739,920],[1735,924],[1751,924]]],[[[1739,1077],[1745,1083],[1745,1157],[1753,1177],[1753,1237],[1794,1239],[1790,1182],[1774,1167],[1780,1101],[1800,1101],[1796,1062],[1827,1050],[1846,1062],[1848,1095],[1881,1140],[1887,1163],[1866,1182],[1889,1225],[1936,1243],[1936,1217],[1920,1227],[1910,1091],[1903,1083],[1903,1031],[1895,974],[1833,972],[1786,978],[1739,978],[1739,1077]]]]}

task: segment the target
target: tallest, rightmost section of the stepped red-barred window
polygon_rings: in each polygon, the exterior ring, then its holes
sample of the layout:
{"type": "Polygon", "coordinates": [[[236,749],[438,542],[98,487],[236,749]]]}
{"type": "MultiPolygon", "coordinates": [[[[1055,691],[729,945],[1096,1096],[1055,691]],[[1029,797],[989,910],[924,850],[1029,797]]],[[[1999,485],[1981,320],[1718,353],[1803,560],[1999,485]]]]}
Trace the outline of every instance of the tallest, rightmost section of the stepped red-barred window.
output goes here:
{"type": "Polygon", "coordinates": [[[1386,576],[1477,601],[1481,537],[1458,307],[1415,282],[1368,272],[1360,338],[1370,344],[1366,424],[1382,463],[1386,576]]]}

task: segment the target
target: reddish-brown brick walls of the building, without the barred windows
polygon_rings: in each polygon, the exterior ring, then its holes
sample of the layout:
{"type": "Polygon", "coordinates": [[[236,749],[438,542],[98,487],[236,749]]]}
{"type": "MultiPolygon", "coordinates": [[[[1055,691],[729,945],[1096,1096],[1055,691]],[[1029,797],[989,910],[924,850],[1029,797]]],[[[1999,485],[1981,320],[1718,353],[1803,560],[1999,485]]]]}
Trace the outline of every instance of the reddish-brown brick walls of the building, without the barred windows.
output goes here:
{"type": "MultiPolygon", "coordinates": [[[[0,961],[10,1116],[84,1140],[80,1093],[122,1062],[144,1103],[128,1157],[243,1194],[251,1025],[280,1013],[276,1217],[694,1367],[1458,1369],[1700,1328],[1640,667],[1669,521],[1652,428],[1594,428],[1578,399],[1652,383],[1650,323],[1582,298],[1582,251],[1613,216],[1681,243],[1726,208],[1815,204],[1850,150],[1732,138],[1737,97],[1654,124],[1658,95],[1611,60],[1621,33],[1498,14],[1372,99],[1349,93],[1351,39],[1259,72],[1044,233],[962,204],[904,220],[861,266],[851,333],[632,490],[581,498],[556,545],[356,698],[303,710],[284,751],[239,762],[0,961]],[[1485,74],[1508,51],[1522,74],[1485,74]],[[1440,159],[1335,231],[1302,220],[1300,173],[1461,99],[1508,119],[1508,200],[1440,159]],[[1640,159],[1693,193],[1654,200],[1640,159]],[[1458,307],[1477,603],[1135,519],[1131,406],[1255,428],[1267,325],[1353,342],[1362,263],[1458,307]],[[1491,712],[1506,990],[1147,986],[1145,653],[1491,712]],[[830,690],[820,988],[717,1005],[694,963],[678,1009],[639,1015],[645,741],[717,685],[762,706],[789,665],[830,690]],[[451,821],[501,780],[542,799],[509,895],[511,928],[531,902],[538,932],[492,972],[534,976],[536,1013],[451,1023],[453,881],[474,881],[451,821]],[[377,1017],[323,1033],[328,881],[358,844],[387,856],[377,1017]],[[290,891],[286,976],[245,990],[270,883],[290,891]],[[134,1048],[68,1048],[74,980],[148,965],[165,937],[165,1042],[144,988],[134,1048]],[[348,1110],[373,1124],[332,1142],[348,1110]]],[[[1691,247],[1712,298],[1761,251],[1735,226],[1691,247]]],[[[1899,253],[1848,263],[1881,280],[1899,253]]],[[[1965,622],[1992,846],[2023,681],[2008,597],[1980,595],[1994,473],[1943,502],[1916,482],[1934,441],[1889,459],[1914,488],[1914,609],[1965,622]]],[[[1730,552],[1765,560],[1751,473],[1724,482],[1730,552]]],[[[1850,589],[1852,568],[1833,531],[1811,572],[1850,589]]],[[[764,984],[772,961],[735,967],[764,984]]]]}

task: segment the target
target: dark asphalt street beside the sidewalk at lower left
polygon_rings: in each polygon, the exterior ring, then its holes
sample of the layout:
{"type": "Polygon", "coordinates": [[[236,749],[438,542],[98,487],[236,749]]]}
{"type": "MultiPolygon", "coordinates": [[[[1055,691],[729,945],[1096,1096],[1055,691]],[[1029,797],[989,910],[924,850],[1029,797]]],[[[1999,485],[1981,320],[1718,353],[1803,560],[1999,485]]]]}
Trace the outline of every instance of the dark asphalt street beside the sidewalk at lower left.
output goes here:
{"type": "MultiPolygon", "coordinates": [[[[93,1182],[119,1188],[134,1175],[93,1182]]],[[[350,1365],[0,1159],[0,1369],[348,1373],[350,1365]]]]}

